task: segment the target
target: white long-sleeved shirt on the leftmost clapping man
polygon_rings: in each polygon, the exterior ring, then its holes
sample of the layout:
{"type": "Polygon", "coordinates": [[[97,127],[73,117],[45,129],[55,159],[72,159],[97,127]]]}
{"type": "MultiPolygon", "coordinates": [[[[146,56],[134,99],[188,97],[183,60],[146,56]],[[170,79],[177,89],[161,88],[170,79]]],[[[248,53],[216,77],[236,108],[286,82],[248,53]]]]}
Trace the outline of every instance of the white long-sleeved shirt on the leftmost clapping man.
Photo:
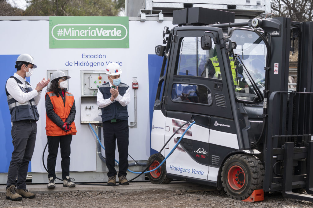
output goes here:
{"type": "MultiPolygon", "coordinates": [[[[17,73],[14,73],[14,77],[18,78],[20,80],[24,87],[26,88],[26,78],[21,77],[17,73]]],[[[8,93],[12,95],[14,99],[16,99],[19,103],[23,104],[29,101],[30,99],[34,98],[35,99],[35,104],[38,105],[40,97],[41,97],[41,92],[37,92],[37,90],[33,89],[30,92],[23,92],[22,89],[18,86],[16,80],[14,78],[9,78],[7,81],[7,85],[5,86],[8,93]]]]}

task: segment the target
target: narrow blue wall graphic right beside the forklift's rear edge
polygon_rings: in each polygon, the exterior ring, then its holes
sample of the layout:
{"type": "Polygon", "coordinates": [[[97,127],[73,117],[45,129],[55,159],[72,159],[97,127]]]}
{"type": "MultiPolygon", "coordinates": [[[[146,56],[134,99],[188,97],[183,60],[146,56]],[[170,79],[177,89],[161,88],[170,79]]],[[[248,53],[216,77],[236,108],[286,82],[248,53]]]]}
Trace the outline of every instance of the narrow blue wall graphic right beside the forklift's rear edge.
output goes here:
{"type": "MultiPolygon", "coordinates": [[[[157,56],[156,54],[148,54],[150,126],[152,126],[153,105],[156,99],[156,89],[159,83],[159,77],[160,77],[161,68],[162,68],[162,61],[163,61],[162,56],[157,56]]],[[[150,135],[151,135],[151,128],[150,128],[150,135]]],[[[150,147],[150,153],[152,155],[154,153],[157,153],[157,151],[150,147]]]]}

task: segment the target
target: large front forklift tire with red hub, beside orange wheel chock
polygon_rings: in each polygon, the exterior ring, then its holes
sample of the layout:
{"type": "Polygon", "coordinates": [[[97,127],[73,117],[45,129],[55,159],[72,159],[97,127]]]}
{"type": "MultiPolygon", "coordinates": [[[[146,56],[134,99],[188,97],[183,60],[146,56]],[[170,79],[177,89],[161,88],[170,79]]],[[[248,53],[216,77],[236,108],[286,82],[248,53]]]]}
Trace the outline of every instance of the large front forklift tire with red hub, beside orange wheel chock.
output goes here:
{"type": "Polygon", "coordinates": [[[230,156],[222,168],[224,191],[233,199],[247,199],[254,190],[263,189],[264,167],[253,155],[230,156]]]}

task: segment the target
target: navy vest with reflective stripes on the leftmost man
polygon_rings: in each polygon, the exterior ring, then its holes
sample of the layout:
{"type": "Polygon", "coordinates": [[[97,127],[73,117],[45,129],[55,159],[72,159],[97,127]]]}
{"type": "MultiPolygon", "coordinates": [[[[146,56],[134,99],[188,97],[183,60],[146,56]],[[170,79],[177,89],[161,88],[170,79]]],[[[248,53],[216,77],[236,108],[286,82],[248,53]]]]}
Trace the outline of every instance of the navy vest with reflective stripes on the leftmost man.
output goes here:
{"type": "MultiPolygon", "coordinates": [[[[23,85],[23,83],[18,80],[18,78],[14,76],[10,76],[10,78],[13,78],[16,80],[18,86],[21,88],[21,90],[24,93],[32,91],[31,85],[26,81],[26,88],[23,85]]],[[[8,81],[8,80],[7,80],[8,81]]],[[[7,86],[7,83],[5,84],[7,86]]],[[[21,120],[37,120],[39,119],[39,114],[37,110],[37,106],[35,104],[35,99],[30,99],[26,103],[19,103],[16,99],[12,97],[8,93],[7,88],[5,88],[5,92],[7,94],[7,99],[8,99],[8,105],[10,109],[10,114],[11,114],[11,122],[14,121],[21,121],[21,120]]]]}

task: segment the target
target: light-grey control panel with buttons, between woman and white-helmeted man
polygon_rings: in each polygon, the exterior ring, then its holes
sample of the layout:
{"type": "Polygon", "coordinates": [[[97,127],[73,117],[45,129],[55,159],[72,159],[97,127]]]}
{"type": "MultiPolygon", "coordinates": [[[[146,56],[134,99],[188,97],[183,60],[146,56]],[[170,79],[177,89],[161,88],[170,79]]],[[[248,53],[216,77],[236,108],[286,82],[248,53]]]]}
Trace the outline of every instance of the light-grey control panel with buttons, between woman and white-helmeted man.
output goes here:
{"type": "Polygon", "coordinates": [[[102,123],[97,105],[98,87],[107,83],[105,70],[81,70],[80,123],[102,123]]]}

